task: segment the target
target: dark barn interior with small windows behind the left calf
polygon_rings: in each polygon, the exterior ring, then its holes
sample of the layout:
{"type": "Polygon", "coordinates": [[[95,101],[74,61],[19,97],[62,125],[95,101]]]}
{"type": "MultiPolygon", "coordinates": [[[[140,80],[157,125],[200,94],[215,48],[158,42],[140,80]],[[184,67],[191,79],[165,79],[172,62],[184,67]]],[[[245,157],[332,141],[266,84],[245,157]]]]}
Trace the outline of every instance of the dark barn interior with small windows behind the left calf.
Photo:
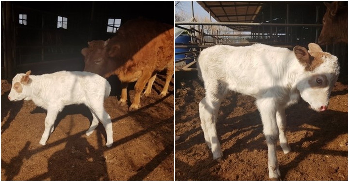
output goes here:
{"type": "Polygon", "coordinates": [[[111,38],[128,20],[173,24],[172,8],[165,8],[173,2],[1,2],[1,7],[1,78],[9,79],[29,69],[82,71],[87,42],[111,38]]]}

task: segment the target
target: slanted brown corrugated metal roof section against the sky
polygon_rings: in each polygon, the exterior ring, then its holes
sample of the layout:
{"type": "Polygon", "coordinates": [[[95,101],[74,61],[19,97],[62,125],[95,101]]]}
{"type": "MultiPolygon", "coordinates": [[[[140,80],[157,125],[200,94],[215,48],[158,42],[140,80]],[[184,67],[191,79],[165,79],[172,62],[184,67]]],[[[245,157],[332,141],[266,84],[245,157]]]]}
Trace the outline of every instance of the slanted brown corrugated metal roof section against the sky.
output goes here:
{"type": "MultiPolygon", "coordinates": [[[[218,22],[252,23],[260,12],[261,2],[197,1],[218,22]]],[[[248,26],[231,26],[240,31],[250,31],[248,26]]]]}

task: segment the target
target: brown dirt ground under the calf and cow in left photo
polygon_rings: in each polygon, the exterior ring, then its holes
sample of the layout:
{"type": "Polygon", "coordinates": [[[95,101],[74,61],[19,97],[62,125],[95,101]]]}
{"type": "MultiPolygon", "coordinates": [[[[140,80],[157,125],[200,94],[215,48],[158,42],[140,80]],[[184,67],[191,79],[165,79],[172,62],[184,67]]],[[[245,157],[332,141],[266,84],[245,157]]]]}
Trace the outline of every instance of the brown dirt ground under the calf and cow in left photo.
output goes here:
{"type": "Polygon", "coordinates": [[[46,111],[32,101],[10,102],[11,85],[1,81],[1,180],[173,181],[173,79],[169,94],[161,98],[164,83],[165,76],[159,75],[151,95],[141,98],[141,108],[128,112],[127,106],[117,105],[111,82],[104,106],[112,118],[114,143],[107,148],[101,123],[86,136],[92,115],[84,105],[65,107],[46,145],[40,145],[46,111]]]}

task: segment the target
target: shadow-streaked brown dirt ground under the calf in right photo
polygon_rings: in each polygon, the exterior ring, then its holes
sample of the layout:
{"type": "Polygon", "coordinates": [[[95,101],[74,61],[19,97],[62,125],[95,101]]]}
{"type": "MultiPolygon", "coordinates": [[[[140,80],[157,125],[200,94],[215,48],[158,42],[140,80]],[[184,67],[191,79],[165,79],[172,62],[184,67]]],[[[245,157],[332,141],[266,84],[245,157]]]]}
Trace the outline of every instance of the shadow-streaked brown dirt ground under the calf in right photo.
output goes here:
{"type": "MultiPolygon", "coordinates": [[[[176,180],[269,180],[268,150],[254,99],[230,93],[221,105],[217,134],[224,159],[213,160],[203,137],[199,101],[205,90],[192,72],[176,73],[176,180]]],[[[329,108],[317,113],[300,101],[286,110],[292,151],[277,146],[282,180],[348,180],[348,81],[337,82],[329,108]]]]}

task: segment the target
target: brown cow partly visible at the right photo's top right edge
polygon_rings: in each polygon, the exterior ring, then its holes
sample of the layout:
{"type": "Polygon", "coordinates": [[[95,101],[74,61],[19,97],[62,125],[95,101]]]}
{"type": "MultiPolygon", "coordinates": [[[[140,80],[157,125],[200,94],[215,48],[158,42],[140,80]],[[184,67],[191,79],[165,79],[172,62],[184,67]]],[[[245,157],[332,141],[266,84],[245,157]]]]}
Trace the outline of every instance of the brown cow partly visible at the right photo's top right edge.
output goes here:
{"type": "Polygon", "coordinates": [[[327,9],[322,18],[319,44],[348,43],[348,7],[339,5],[338,1],[324,4],[327,9]]]}

